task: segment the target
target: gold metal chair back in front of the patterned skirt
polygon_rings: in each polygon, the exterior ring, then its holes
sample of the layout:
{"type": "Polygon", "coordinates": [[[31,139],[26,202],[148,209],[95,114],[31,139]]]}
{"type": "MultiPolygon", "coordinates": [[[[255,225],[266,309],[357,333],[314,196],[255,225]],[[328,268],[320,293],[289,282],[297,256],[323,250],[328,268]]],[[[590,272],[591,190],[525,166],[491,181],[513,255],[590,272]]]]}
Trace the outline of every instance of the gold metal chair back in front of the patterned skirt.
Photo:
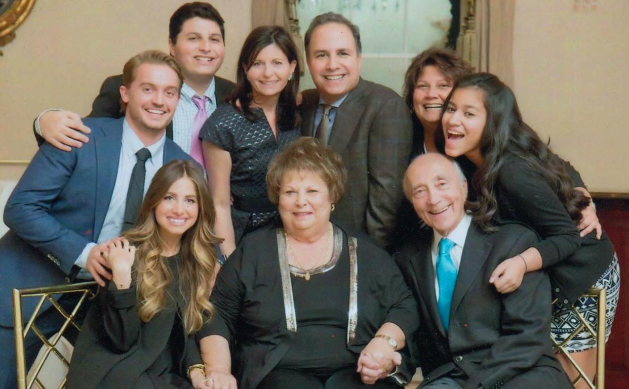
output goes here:
{"type": "MultiPolygon", "coordinates": [[[[554,338],[551,337],[552,342],[554,344],[555,353],[563,354],[574,366],[579,375],[572,381],[572,385],[576,385],[579,381],[585,381],[587,385],[591,389],[604,389],[605,388],[605,314],[607,309],[607,294],[603,288],[590,288],[587,290],[583,296],[588,297],[596,297],[598,301],[598,326],[596,329],[590,326],[589,322],[573,307],[571,307],[572,312],[579,318],[579,326],[577,329],[571,332],[570,336],[568,336],[562,342],[556,342],[554,338]],[[583,329],[586,329],[588,332],[592,334],[594,339],[596,339],[596,375],[594,376],[593,383],[587,375],[582,370],[581,366],[574,361],[570,353],[568,353],[564,346],[569,341],[572,340],[576,334],[581,332],[583,329]]],[[[555,304],[555,302],[553,302],[555,304]]]]}

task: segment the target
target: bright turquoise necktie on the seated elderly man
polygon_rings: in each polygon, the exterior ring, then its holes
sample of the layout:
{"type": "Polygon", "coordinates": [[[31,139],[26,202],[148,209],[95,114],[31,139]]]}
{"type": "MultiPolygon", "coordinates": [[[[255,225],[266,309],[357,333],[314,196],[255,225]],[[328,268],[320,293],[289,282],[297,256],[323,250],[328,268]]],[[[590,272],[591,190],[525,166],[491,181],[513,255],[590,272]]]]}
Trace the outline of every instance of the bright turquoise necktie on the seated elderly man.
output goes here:
{"type": "Polygon", "coordinates": [[[439,317],[445,331],[448,331],[448,325],[450,324],[450,305],[452,305],[452,294],[454,293],[454,285],[457,282],[457,273],[459,272],[450,256],[450,250],[454,246],[453,241],[442,238],[439,241],[439,255],[437,256],[437,282],[439,283],[437,309],[439,310],[439,317]]]}

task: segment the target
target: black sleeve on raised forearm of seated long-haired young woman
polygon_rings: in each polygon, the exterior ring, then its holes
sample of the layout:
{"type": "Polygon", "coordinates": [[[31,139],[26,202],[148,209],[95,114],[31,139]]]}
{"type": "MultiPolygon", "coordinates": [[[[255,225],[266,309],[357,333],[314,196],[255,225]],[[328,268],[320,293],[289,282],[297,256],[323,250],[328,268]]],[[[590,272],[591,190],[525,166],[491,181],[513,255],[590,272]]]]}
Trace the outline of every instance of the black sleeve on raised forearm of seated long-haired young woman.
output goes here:
{"type": "Polygon", "coordinates": [[[136,309],[136,288],[118,290],[113,285],[101,288],[103,331],[106,344],[114,353],[126,353],[140,337],[141,322],[136,309]]]}

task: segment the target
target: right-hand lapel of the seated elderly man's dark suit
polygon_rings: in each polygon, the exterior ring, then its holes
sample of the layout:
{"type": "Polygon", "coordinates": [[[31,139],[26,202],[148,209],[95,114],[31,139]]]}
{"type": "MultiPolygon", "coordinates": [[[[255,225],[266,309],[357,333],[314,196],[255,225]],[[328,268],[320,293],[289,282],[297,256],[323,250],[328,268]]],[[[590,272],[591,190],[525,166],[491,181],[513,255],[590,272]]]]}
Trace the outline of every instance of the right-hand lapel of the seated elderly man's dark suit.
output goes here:
{"type": "MultiPolygon", "coordinates": [[[[454,317],[461,300],[467,293],[470,285],[481,270],[491,251],[492,244],[484,239],[484,234],[479,227],[472,222],[470,224],[469,231],[467,231],[467,238],[465,238],[465,247],[463,248],[463,255],[461,256],[461,263],[459,265],[459,274],[457,275],[457,283],[454,287],[454,294],[452,295],[452,305],[450,307],[450,317],[454,317]]],[[[489,280],[487,280],[489,282],[489,280]]]]}

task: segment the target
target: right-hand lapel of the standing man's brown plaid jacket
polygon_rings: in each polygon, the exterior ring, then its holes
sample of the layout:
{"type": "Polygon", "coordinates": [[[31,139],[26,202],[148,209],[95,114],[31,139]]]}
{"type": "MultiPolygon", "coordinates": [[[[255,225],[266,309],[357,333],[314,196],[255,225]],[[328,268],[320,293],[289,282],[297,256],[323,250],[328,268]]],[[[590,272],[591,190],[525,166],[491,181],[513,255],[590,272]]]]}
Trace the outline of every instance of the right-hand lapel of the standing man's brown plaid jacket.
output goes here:
{"type": "Polygon", "coordinates": [[[347,143],[352,138],[352,134],[362,117],[362,112],[365,110],[362,100],[365,96],[366,85],[365,81],[360,79],[358,85],[337,108],[328,143],[338,153],[342,153],[347,147],[347,143]]]}

